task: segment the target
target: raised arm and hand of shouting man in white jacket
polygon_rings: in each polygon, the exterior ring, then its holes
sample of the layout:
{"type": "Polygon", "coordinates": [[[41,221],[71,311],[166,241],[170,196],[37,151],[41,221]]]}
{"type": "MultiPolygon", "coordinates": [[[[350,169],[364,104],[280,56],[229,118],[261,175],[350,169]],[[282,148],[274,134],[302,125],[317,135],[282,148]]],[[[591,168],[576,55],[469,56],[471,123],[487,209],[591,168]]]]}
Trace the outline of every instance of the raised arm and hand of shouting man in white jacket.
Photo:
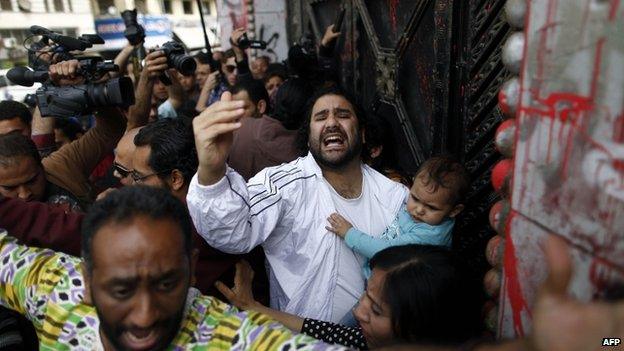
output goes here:
{"type": "Polygon", "coordinates": [[[262,244],[286,208],[271,177],[261,172],[248,185],[226,166],[243,106],[226,92],[193,120],[199,167],[186,198],[189,212],[208,244],[228,253],[246,253],[262,244]]]}

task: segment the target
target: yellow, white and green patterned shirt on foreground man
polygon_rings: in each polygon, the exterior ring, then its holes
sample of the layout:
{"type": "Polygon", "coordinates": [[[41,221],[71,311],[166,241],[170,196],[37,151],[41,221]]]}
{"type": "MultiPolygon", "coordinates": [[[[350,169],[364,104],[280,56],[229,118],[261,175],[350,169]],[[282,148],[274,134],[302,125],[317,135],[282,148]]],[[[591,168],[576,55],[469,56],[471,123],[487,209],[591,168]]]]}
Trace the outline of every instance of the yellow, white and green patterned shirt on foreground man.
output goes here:
{"type": "MultiPolygon", "coordinates": [[[[40,350],[100,350],[99,320],[85,304],[79,258],[19,245],[0,229],[0,304],[33,322],[40,350]]],[[[191,288],[169,350],[340,350],[293,334],[269,317],[239,312],[191,288]]]]}

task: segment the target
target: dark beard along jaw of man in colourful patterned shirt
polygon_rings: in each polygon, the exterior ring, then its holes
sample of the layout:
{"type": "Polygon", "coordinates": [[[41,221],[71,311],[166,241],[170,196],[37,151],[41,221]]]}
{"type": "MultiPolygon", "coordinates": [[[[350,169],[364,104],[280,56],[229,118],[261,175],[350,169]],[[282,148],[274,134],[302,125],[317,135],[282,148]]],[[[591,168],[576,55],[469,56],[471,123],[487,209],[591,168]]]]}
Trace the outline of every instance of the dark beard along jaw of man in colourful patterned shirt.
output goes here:
{"type": "MultiPolygon", "coordinates": [[[[93,296],[91,297],[92,301],[95,303],[95,299],[93,296]]],[[[104,316],[100,313],[100,309],[95,304],[95,312],[97,313],[98,319],[100,320],[100,330],[104,334],[103,336],[108,340],[108,342],[113,345],[116,351],[126,351],[127,348],[121,343],[120,339],[124,332],[128,330],[125,326],[121,325],[113,325],[112,323],[108,323],[104,316]]],[[[171,318],[168,318],[164,321],[158,322],[158,325],[155,327],[161,330],[164,330],[164,334],[158,341],[154,350],[164,350],[173,338],[175,338],[178,330],[180,329],[180,323],[182,323],[182,318],[184,318],[184,307],[186,304],[182,304],[182,308],[176,312],[171,318]]]]}

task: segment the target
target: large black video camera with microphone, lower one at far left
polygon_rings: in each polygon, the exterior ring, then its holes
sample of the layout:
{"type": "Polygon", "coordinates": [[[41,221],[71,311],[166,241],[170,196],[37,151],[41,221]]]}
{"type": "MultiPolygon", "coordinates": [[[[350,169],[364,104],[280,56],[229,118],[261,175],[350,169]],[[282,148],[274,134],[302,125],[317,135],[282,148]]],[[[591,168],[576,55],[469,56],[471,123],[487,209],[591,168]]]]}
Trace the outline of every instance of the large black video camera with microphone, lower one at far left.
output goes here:
{"type": "Polygon", "coordinates": [[[47,71],[31,71],[27,67],[12,68],[7,73],[7,78],[23,86],[32,86],[34,82],[43,83],[35,94],[43,117],[69,118],[90,113],[97,107],[125,108],[134,104],[134,85],[130,78],[120,77],[97,82],[107,72],[119,70],[112,61],[88,57],[79,59],[79,62],[78,73],[85,78],[84,84],[58,87],[49,81],[47,71]]]}

